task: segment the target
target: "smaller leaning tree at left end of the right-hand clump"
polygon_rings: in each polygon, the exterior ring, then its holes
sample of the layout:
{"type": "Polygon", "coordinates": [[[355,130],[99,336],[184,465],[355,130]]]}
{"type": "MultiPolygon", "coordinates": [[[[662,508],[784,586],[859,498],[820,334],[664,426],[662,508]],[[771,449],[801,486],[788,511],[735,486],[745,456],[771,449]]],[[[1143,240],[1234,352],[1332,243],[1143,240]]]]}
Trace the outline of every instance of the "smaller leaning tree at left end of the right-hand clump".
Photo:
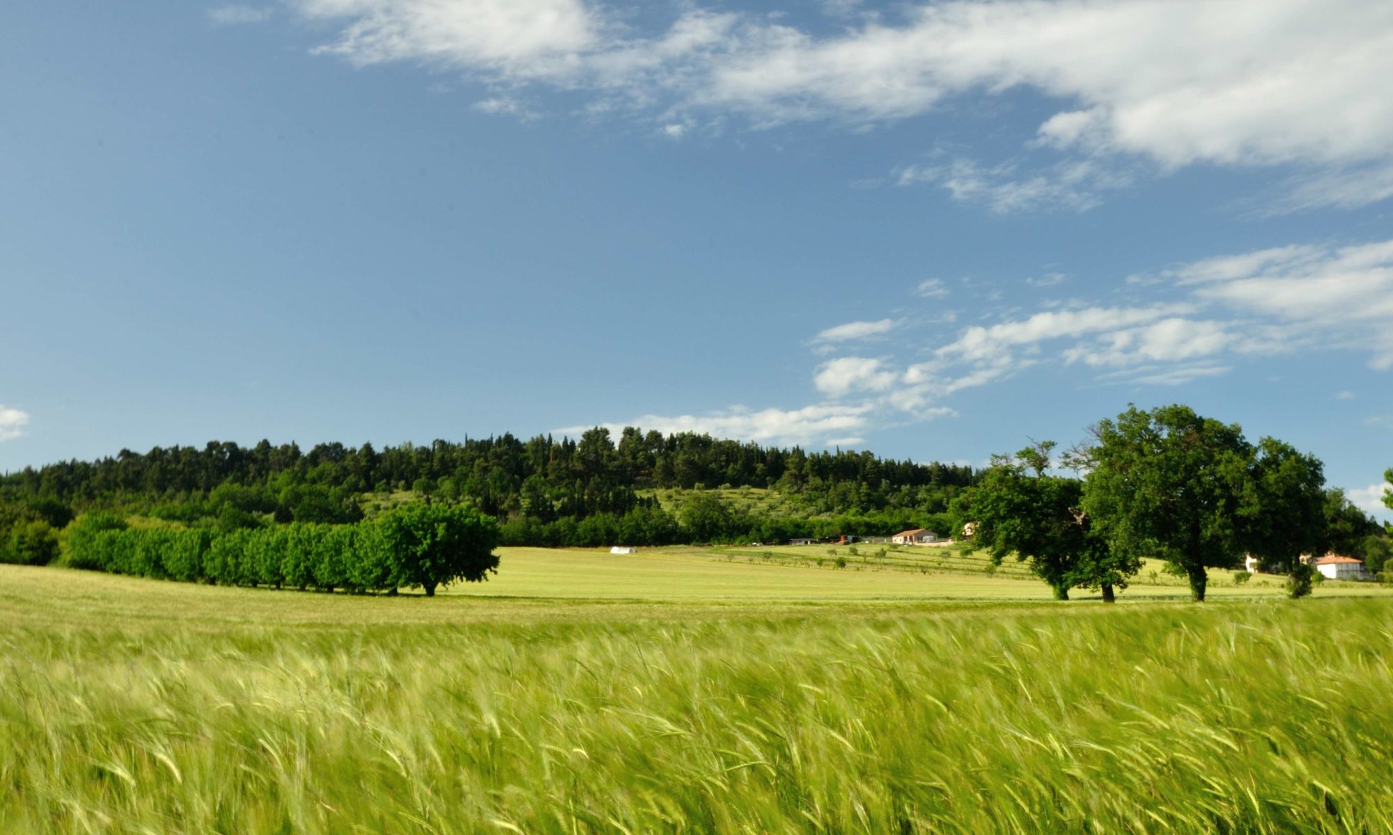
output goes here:
{"type": "Polygon", "coordinates": [[[1114,552],[1094,533],[1081,511],[1082,482],[1048,475],[1053,448],[1053,441],[1043,441],[993,456],[976,487],[957,502],[957,515],[972,522],[972,540],[997,564],[1009,554],[1028,561],[1056,600],[1068,600],[1070,589],[1084,586],[1102,589],[1103,600],[1113,603],[1113,589],[1126,589],[1141,562],[1114,552]]]}

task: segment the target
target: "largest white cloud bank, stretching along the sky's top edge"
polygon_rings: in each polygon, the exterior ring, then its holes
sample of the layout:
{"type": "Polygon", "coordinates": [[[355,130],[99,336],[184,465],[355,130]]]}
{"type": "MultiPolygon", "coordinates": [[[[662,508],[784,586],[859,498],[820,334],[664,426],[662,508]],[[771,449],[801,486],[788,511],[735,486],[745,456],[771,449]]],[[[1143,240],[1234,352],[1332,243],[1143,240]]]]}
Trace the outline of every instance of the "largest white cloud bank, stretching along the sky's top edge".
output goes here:
{"type": "MultiPolygon", "coordinates": [[[[414,61],[499,88],[547,85],[660,124],[742,116],[873,122],[953,96],[1029,88],[1053,111],[1034,170],[911,167],[995,210],[1088,209],[1121,160],[1287,166],[1276,210],[1393,196],[1393,4],[1367,0],[950,0],[859,14],[830,35],[755,11],[683,4],[656,26],[591,0],[290,0],[336,21],[325,54],[414,61]]],[[[832,4],[850,14],[858,4],[832,4]]]]}

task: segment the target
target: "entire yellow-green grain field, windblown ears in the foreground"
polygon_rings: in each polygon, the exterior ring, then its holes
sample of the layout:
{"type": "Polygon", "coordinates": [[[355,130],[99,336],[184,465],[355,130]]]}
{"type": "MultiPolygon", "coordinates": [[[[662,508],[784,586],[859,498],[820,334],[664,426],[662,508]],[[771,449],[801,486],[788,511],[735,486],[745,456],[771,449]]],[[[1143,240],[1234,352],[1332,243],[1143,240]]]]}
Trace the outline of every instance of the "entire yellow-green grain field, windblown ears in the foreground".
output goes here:
{"type": "Polygon", "coordinates": [[[1393,831],[1379,589],[775,559],[506,550],[433,600],[0,566],[0,832],[1393,831]]]}

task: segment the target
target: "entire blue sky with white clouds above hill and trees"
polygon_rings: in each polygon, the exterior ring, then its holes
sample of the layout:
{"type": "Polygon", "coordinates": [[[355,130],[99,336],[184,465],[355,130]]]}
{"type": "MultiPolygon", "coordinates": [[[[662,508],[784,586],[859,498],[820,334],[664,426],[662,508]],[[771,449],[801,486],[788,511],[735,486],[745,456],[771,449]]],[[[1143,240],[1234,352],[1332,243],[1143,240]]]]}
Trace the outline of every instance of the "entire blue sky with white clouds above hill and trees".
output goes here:
{"type": "Polygon", "coordinates": [[[0,56],[0,469],[1176,401],[1393,465],[1389,4],[50,0],[0,56]]]}

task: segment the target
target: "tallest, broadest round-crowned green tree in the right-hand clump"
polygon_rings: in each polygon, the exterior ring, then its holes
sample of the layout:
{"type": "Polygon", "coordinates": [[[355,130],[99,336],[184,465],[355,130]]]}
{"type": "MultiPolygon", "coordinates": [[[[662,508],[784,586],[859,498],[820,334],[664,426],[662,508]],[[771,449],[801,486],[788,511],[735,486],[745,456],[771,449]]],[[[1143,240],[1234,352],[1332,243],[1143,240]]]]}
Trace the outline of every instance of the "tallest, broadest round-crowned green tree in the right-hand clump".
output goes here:
{"type": "Polygon", "coordinates": [[[1205,598],[1209,568],[1245,552],[1291,569],[1325,536],[1318,459],[1272,438],[1250,444],[1237,424],[1190,406],[1127,409],[1078,451],[1084,511],[1112,548],[1160,557],[1205,598]]]}

